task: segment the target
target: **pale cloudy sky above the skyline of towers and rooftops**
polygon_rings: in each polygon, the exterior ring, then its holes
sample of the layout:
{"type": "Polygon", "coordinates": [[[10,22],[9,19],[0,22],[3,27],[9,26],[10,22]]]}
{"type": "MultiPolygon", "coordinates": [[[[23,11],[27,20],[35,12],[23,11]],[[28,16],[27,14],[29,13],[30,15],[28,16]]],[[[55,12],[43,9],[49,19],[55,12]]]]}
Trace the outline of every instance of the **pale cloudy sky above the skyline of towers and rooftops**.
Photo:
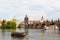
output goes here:
{"type": "Polygon", "coordinates": [[[56,20],[60,18],[60,0],[0,0],[0,19],[10,20],[14,16],[23,20],[56,20]]]}

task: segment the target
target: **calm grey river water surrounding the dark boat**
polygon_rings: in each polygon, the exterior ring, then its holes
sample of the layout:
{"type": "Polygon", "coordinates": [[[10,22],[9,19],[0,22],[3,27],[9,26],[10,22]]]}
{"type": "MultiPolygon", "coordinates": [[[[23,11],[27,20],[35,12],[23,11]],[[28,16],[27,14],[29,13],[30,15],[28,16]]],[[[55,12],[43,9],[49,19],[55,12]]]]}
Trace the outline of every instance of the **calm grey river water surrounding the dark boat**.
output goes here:
{"type": "Polygon", "coordinates": [[[21,31],[21,29],[0,29],[0,40],[60,40],[60,32],[41,31],[40,29],[29,29],[29,35],[25,38],[11,37],[11,32],[16,30],[21,31]]]}

